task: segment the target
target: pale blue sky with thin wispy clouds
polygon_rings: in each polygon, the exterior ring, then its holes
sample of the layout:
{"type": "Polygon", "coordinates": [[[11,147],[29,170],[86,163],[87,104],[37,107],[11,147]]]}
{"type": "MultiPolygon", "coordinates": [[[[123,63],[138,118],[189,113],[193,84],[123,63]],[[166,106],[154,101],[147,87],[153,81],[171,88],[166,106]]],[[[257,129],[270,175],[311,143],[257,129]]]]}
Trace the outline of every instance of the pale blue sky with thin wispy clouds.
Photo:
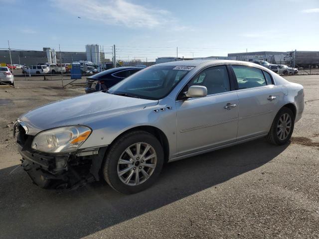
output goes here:
{"type": "Polygon", "coordinates": [[[118,59],[319,51],[319,0],[0,0],[0,48],[85,51],[118,59]],[[4,7],[3,7],[4,6],[4,7]],[[177,49],[176,49],[177,47],[177,49]],[[111,56],[110,53],[107,53],[111,56]]]}

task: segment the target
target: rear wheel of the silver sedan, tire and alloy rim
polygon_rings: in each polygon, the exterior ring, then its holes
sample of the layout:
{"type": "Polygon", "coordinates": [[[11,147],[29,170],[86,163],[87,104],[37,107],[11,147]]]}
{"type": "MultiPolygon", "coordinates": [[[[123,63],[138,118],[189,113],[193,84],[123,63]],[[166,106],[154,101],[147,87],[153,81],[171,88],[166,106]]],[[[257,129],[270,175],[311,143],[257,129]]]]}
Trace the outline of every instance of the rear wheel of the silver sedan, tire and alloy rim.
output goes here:
{"type": "Polygon", "coordinates": [[[268,132],[268,135],[266,136],[266,139],[275,145],[283,145],[286,144],[293,134],[295,126],[295,116],[294,113],[286,107],[283,107],[276,115],[271,128],[268,132]],[[289,116],[289,118],[287,117],[289,116]],[[283,124],[285,122],[285,119],[288,118],[286,121],[286,124],[283,124]],[[290,121],[289,121],[290,119],[290,121]],[[279,126],[281,125],[281,126],[279,126]],[[287,125],[287,128],[285,127],[287,125]],[[288,128],[290,127],[290,128],[288,128]],[[283,129],[286,128],[286,130],[283,131],[283,129]],[[282,130],[281,130],[282,129],[282,130]],[[290,130],[288,130],[290,129],[290,130]],[[280,131],[281,130],[281,131],[280,131]],[[288,133],[287,133],[288,132],[288,133]]]}

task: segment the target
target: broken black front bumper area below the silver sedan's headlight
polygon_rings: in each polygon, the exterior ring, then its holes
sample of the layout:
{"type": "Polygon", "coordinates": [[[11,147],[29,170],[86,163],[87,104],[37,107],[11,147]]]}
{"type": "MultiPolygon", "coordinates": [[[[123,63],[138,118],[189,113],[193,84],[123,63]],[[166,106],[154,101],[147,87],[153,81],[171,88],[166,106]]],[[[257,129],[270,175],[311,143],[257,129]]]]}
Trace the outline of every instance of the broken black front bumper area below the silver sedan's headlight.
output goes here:
{"type": "Polygon", "coordinates": [[[18,144],[22,167],[32,181],[42,188],[54,189],[74,189],[99,181],[106,149],[99,147],[90,151],[54,155],[25,150],[18,144]]]}

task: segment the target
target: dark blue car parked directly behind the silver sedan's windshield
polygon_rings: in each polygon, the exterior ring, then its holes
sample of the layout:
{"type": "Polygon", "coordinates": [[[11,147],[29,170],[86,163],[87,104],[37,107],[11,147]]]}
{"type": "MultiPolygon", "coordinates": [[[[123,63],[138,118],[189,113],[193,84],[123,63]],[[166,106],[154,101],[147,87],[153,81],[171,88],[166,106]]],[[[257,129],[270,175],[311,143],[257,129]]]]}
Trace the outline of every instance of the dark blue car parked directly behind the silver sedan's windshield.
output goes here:
{"type": "Polygon", "coordinates": [[[119,67],[102,71],[86,78],[85,93],[107,90],[125,78],[144,69],[143,67],[119,67]]]}

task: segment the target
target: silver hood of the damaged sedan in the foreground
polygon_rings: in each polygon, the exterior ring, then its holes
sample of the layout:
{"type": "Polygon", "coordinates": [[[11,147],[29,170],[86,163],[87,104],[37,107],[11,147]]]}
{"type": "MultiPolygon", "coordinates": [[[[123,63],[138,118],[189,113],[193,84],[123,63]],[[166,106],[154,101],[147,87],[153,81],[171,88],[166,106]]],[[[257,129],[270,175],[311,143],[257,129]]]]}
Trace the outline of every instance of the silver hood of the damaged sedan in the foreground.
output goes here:
{"type": "Polygon", "coordinates": [[[19,117],[28,134],[66,125],[90,124],[114,114],[156,106],[158,101],[131,98],[96,92],[53,102],[19,117]]]}

